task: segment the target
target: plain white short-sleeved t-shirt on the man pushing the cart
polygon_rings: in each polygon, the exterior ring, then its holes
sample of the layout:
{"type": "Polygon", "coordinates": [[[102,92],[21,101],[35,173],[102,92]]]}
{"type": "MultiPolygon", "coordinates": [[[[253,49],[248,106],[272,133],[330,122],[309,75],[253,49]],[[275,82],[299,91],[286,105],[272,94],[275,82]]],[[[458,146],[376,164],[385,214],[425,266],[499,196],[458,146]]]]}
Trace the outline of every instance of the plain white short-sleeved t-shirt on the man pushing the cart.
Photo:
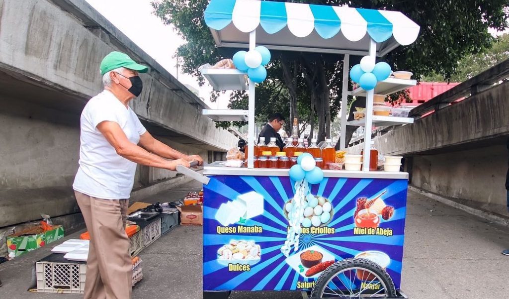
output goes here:
{"type": "Polygon", "coordinates": [[[120,125],[130,142],[138,144],[147,129],[131,108],[105,90],[91,98],[81,113],[79,169],[73,188],[101,199],[128,199],[136,172],[136,163],[119,156],[97,125],[112,121],[120,125]]]}

